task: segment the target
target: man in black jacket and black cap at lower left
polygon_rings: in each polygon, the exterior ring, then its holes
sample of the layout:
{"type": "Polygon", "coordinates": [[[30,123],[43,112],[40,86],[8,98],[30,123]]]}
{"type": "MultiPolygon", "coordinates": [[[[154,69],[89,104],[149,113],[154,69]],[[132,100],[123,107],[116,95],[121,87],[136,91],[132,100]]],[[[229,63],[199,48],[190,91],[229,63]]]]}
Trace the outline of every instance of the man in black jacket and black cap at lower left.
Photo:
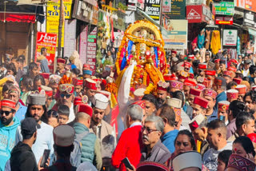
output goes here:
{"type": "Polygon", "coordinates": [[[19,141],[10,156],[10,168],[15,171],[38,171],[38,165],[32,152],[32,145],[37,139],[38,123],[33,117],[26,117],[22,121],[23,141],[19,141]]]}

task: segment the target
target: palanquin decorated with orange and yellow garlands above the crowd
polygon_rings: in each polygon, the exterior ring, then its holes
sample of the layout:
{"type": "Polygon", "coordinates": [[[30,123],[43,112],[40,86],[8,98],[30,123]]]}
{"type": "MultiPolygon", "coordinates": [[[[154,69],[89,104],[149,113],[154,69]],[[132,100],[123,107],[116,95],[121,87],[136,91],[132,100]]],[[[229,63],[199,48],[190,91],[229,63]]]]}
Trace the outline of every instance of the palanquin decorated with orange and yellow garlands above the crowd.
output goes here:
{"type": "Polygon", "coordinates": [[[164,82],[163,75],[167,73],[164,41],[158,27],[145,20],[131,24],[119,46],[115,66],[118,93],[126,89],[127,95],[129,87],[130,97],[133,96],[132,91],[139,87],[146,88],[145,93],[154,92],[158,82],[164,82]]]}

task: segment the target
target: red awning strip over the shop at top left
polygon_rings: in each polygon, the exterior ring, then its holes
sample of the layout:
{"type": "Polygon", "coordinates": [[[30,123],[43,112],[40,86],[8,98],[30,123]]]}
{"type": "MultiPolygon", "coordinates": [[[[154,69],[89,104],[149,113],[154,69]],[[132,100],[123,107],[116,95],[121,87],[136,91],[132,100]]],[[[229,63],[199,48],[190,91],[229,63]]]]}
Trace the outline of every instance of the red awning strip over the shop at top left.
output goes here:
{"type": "Polygon", "coordinates": [[[6,17],[3,13],[0,13],[0,21],[4,21],[6,18],[6,22],[35,22],[35,14],[12,14],[6,13],[6,17]]]}

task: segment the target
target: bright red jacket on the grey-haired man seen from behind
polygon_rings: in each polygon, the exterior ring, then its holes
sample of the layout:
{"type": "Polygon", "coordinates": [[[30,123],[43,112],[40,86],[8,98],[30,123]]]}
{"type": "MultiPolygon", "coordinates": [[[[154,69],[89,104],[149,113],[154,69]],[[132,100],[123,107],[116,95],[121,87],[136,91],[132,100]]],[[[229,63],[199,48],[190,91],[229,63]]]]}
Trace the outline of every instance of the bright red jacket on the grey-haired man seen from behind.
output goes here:
{"type": "Polygon", "coordinates": [[[131,165],[136,168],[141,160],[142,153],[142,126],[135,125],[122,132],[117,147],[112,154],[112,165],[120,171],[126,171],[126,166],[122,160],[127,157],[131,165]]]}

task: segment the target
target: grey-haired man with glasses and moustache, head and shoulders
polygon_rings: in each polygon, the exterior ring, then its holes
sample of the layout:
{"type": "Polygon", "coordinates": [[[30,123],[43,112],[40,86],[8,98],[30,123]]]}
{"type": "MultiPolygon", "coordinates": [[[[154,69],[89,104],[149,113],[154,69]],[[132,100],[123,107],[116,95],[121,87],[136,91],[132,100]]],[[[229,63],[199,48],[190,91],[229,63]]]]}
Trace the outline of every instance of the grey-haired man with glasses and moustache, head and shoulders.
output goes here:
{"type": "Polygon", "coordinates": [[[141,161],[154,161],[164,164],[170,158],[170,151],[162,144],[164,123],[161,117],[150,115],[146,117],[145,124],[142,127],[142,144],[145,149],[142,150],[141,161]]]}

